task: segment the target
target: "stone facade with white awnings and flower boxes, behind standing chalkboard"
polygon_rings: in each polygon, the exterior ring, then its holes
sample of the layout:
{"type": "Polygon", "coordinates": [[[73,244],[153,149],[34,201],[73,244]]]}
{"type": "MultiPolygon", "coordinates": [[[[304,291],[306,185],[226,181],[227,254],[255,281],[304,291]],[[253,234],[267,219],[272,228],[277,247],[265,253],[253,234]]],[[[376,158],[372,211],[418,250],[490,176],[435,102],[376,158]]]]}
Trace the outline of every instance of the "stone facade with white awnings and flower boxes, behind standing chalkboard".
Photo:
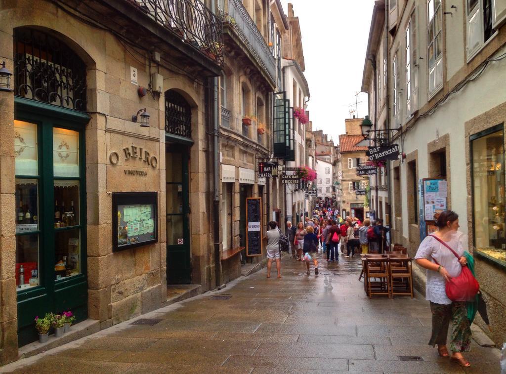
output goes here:
{"type": "Polygon", "coordinates": [[[247,198],[262,199],[264,247],[270,212],[276,212],[283,227],[283,188],[278,178],[258,178],[258,165],[271,156],[272,92],[282,91],[281,51],[288,23],[279,2],[226,0],[220,10],[225,35],[220,77],[221,264],[227,282],[241,275],[241,264],[265,257],[265,251],[247,253],[247,198]]]}

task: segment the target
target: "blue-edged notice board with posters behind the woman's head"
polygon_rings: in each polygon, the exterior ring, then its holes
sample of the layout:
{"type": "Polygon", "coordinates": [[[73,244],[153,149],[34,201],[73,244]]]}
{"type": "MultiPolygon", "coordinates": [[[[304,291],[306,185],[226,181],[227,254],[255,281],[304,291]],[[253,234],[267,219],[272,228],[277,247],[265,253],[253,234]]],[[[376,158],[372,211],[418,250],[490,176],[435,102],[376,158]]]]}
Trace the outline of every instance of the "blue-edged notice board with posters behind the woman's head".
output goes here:
{"type": "Polygon", "coordinates": [[[422,181],[425,234],[429,235],[435,230],[434,215],[448,209],[448,185],[444,178],[425,178],[422,181]]]}

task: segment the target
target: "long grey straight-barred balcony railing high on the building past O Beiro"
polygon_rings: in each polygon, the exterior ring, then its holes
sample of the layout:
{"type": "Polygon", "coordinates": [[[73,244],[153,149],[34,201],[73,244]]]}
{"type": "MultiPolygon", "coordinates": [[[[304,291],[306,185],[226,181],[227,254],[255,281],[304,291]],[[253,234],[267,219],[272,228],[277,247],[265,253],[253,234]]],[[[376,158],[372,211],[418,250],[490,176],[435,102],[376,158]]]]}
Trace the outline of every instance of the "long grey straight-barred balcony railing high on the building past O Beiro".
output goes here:
{"type": "Polygon", "coordinates": [[[257,24],[249,16],[240,0],[228,0],[228,14],[223,20],[233,25],[235,31],[246,44],[249,51],[255,56],[257,62],[263,67],[271,81],[276,80],[276,64],[274,56],[265,42],[257,24]]]}

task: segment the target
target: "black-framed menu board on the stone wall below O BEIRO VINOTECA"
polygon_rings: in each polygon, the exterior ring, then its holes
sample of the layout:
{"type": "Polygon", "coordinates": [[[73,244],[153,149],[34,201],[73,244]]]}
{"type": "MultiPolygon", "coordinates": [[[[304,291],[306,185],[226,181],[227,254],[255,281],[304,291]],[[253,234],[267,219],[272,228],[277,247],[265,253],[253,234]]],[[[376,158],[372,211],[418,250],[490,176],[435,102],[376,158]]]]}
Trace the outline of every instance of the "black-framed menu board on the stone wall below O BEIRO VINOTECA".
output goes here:
{"type": "Polygon", "coordinates": [[[112,194],[113,251],[158,241],[157,192],[112,194]]]}

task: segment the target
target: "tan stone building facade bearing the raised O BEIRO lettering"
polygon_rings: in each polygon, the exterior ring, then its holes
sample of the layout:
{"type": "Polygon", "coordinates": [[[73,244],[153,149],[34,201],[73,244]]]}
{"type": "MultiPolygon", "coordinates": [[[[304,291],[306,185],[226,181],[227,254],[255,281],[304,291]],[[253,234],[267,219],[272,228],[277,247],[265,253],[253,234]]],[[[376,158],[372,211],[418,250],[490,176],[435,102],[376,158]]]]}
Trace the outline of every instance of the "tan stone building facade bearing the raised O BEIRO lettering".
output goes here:
{"type": "Polygon", "coordinates": [[[1,6],[14,73],[0,92],[6,363],[36,339],[36,315],[72,310],[105,328],[160,307],[167,283],[216,286],[209,87],[223,37],[199,2],[192,20],[151,1],[1,6]],[[126,243],[138,246],[116,251],[126,243]]]}

